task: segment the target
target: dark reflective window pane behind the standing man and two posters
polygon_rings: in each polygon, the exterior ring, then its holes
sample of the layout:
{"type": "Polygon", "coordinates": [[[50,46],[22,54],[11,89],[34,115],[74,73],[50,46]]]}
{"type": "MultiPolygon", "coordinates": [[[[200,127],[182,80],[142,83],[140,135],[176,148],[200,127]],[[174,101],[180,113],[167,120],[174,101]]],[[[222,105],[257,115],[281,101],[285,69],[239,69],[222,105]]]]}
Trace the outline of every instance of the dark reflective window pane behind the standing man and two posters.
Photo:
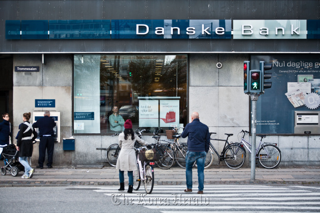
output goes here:
{"type": "MultiPolygon", "coordinates": [[[[112,107],[136,109],[130,118],[138,128],[138,96],[179,96],[180,114],[187,106],[187,56],[100,56],[100,129],[110,130],[112,107]],[[126,108],[127,107],[127,108],[126,108]]],[[[129,112],[129,111],[128,111],[129,112]]],[[[126,115],[124,115],[126,116],[126,115]]],[[[127,118],[128,119],[128,118],[127,118]]]]}

